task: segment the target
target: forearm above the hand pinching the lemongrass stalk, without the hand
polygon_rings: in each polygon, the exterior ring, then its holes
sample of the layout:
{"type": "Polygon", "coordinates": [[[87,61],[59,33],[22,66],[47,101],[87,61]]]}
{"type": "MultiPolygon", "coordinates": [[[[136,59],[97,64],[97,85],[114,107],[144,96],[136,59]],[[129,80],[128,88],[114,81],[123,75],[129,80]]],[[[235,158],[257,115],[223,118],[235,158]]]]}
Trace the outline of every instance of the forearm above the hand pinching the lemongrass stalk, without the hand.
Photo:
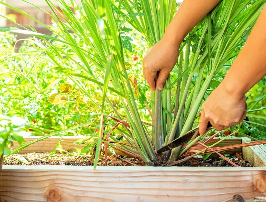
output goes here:
{"type": "Polygon", "coordinates": [[[180,45],[187,34],[209,13],[220,0],[184,0],[166,28],[165,36],[180,45]]]}

